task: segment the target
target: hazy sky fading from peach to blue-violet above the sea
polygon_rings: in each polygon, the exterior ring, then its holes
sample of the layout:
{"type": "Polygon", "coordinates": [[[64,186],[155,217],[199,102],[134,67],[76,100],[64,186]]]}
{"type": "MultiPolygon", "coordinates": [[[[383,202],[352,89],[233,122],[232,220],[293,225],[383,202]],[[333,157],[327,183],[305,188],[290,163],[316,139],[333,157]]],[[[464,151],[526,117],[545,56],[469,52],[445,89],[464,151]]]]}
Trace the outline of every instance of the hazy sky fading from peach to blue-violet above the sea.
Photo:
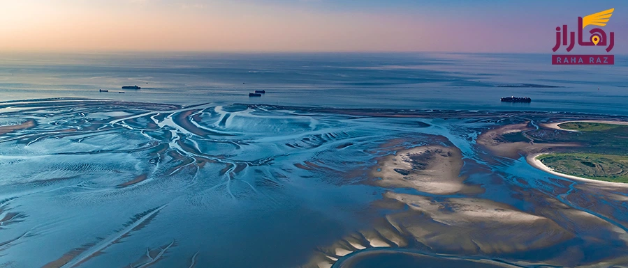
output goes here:
{"type": "Polygon", "coordinates": [[[0,52],[551,53],[608,8],[627,54],[625,0],[0,0],[0,52]]]}

